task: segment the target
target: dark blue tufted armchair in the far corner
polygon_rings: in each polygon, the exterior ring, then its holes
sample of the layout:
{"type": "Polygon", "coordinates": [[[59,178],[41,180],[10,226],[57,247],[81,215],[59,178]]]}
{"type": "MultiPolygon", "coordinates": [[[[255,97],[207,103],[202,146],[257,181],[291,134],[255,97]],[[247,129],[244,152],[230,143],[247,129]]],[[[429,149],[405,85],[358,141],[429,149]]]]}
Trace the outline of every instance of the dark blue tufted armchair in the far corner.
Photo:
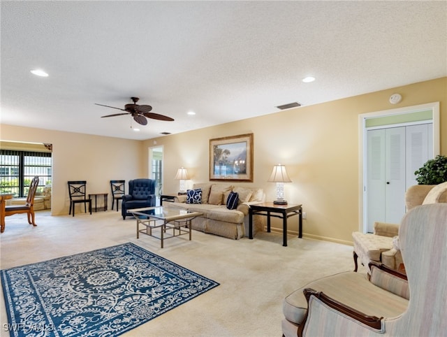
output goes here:
{"type": "Polygon", "coordinates": [[[122,196],[122,216],[132,215],[128,210],[132,208],[153,207],[155,206],[155,180],[152,179],[134,179],[129,180],[129,194],[122,196]]]}

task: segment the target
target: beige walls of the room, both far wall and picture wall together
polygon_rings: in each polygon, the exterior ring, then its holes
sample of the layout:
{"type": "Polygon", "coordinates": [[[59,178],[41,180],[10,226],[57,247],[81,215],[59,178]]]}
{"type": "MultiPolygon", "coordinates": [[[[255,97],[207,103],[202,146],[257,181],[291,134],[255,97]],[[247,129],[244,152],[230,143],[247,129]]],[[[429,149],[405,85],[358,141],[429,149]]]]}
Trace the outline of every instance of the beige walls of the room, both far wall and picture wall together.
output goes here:
{"type": "MultiPolygon", "coordinates": [[[[110,179],[147,177],[148,148],[162,146],[163,191],[176,192],[180,166],[191,174],[189,186],[208,181],[210,138],[253,133],[254,182],[242,185],[263,187],[272,200],[275,185],[268,177],[274,164],[285,164],[292,180],[285,186],[286,199],[302,203],[305,236],[351,243],[360,197],[358,115],[440,101],[441,154],[447,155],[446,93],[447,78],[440,78],[147,141],[9,125],[1,125],[0,139],[53,144],[52,213],[59,215],[68,213],[67,180],[85,179],[89,192],[109,192],[110,179]],[[388,98],[395,92],[403,100],[392,105],[388,98]]],[[[290,223],[296,232],[293,217],[290,223]]],[[[277,221],[274,226],[280,227],[277,221]]]]}

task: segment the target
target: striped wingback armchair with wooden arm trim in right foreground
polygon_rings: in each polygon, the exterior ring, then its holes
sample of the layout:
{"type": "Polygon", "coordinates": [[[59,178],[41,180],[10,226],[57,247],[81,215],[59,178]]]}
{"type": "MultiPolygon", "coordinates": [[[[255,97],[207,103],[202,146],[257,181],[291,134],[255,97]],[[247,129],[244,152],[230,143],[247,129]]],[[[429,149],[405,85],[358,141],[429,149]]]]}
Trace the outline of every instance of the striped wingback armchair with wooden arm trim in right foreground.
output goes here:
{"type": "Polygon", "coordinates": [[[447,204],[413,208],[399,236],[407,281],[373,267],[311,282],[284,301],[284,336],[445,336],[447,204]]]}

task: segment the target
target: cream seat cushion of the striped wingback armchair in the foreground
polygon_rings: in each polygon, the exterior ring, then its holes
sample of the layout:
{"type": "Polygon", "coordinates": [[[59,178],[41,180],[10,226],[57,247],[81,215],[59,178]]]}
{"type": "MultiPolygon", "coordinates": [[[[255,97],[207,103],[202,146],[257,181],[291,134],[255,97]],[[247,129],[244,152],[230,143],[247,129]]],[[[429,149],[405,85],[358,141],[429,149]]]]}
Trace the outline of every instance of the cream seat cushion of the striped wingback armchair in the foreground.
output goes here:
{"type": "Polygon", "coordinates": [[[346,304],[366,315],[397,317],[404,313],[409,301],[376,287],[365,280],[363,273],[348,271],[313,281],[284,299],[283,313],[286,319],[300,324],[307,312],[307,301],[302,293],[305,288],[323,292],[336,301],[346,304]],[[372,301],[376,299],[377,301],[372,301]]]}

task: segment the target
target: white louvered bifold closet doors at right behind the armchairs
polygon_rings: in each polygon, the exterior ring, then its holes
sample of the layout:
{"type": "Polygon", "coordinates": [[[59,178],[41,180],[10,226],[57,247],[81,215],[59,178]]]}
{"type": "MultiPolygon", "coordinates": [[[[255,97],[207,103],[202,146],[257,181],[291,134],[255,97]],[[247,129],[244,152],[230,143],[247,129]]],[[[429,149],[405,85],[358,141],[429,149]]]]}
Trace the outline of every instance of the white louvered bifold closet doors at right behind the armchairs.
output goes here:
{"type": "Polygon", "coordinates": [[[405,191],[416,185],[414,171],[432,154],[432,124],[367,131],[367,231],[374,222],[400,223],[405,191]]]}

